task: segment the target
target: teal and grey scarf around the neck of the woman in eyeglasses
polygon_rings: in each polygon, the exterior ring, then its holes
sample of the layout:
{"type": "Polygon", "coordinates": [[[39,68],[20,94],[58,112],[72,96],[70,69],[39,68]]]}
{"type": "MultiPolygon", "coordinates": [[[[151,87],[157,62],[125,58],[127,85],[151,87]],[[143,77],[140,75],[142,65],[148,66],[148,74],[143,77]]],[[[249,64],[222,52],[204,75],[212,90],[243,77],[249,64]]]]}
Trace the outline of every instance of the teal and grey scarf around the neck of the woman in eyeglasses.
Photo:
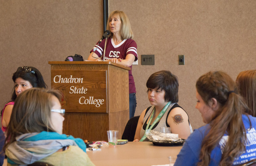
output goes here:
{"type": "Polygon", "coordinates": [[[86,153],[86,145],[80,138],[56,132],[27,133],[16,137],[5,154],[10,164],[27,165],[39,161],[65,146],[79,146],[86,153]]]}

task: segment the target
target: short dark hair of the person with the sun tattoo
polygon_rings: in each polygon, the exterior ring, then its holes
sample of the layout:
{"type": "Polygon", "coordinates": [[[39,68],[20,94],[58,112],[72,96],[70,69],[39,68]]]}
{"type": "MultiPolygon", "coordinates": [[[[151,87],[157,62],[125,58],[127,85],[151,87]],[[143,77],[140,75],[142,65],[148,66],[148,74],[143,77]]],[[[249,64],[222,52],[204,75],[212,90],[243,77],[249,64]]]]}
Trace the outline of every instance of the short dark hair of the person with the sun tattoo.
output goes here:
{"type": "Polygon", "coordinates": [[[177,103],[179,101],[178,90],[179,82],[176,75],[170,71],[162,70],[149,76],[146,83],[147,88],[161,89],[165,91],[164,100],[177,103]]]}

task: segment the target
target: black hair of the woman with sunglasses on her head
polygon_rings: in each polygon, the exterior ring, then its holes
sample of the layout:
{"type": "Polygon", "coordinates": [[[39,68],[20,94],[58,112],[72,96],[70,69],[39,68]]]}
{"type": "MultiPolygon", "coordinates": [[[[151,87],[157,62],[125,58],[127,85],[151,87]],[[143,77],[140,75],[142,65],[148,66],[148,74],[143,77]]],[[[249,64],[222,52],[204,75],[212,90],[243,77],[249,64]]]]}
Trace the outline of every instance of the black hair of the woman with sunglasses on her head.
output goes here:
{"type": "MultiPolygon", "coordinates": [[[[15,80],[17,78],[22,78],[23,80],[29,81],[29,83],[31,83],[31,85],[36,88],[47,88],[46,83],[44,82],[44,78],[41,75],[40,71],[36,68],[36,67],[30,67],[34,72],[27,72],[27,71],[23,71],[21,70],[19,67],[17,69],[17,71],[15,73],[13,73],[12,75],[12,80],[15,83],[15,80]]],[[[12,93],[12,101],[14,101],[17,97],[16,93],[15,93],[15,87],[13,88],[13,93],[12,93]]]]}

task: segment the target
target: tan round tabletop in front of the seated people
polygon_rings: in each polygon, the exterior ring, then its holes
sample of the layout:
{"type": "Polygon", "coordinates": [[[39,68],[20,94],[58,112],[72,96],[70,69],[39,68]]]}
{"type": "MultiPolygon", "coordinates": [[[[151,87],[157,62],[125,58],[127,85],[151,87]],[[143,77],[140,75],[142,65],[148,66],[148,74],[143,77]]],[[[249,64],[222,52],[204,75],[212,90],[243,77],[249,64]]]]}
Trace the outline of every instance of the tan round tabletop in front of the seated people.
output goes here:
{"type": "Polygon", "coordinates": [[[155,146],[152,142],[128,142],[117,147],[87,151],[95,166],[151,166],[169,164],[168,156],[177,155],[182,146],[155,146]]]}

